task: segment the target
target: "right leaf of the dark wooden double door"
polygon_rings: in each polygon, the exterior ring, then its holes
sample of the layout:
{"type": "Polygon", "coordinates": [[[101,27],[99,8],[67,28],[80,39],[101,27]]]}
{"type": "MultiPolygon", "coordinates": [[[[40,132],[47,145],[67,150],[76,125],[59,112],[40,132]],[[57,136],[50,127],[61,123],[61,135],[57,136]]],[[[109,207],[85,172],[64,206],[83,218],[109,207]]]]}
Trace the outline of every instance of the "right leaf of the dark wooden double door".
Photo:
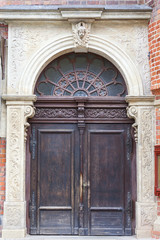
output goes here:
{"type": "Polygon", "coordinates": [[[121,124],[87,126],[91,235],[125,234],[126,129],[121,124]]]}

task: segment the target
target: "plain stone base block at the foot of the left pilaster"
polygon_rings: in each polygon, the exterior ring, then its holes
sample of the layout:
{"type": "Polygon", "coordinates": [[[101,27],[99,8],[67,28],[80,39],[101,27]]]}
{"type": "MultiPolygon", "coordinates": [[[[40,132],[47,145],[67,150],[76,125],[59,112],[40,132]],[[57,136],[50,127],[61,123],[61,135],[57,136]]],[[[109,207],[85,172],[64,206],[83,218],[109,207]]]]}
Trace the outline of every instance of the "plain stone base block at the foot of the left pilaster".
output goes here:
{"type": "Polygon", "coordinates": [[[25,229],[2,229],[2,238],[24,238],[27,230],[25,229]]]}

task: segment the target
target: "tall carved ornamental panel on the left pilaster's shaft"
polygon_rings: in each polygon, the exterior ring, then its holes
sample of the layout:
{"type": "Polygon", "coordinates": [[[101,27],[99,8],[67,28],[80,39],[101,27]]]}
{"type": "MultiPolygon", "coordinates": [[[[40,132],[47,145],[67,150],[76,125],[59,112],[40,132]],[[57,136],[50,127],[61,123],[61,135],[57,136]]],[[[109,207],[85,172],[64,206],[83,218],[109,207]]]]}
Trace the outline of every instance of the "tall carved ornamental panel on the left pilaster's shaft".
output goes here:
{"type": "Polygon", "coordinates": [[[20,200],[21,192],[21,179],[20,179],[20,162],[21,162],[21,149],[20,149],[20,131],[21,131],[21,109],[14,108],[9,110],[9,136],[8,136],[8,149],[9,149],[9,164],[8,164],[8,196],[11,201],[20,200]]]}

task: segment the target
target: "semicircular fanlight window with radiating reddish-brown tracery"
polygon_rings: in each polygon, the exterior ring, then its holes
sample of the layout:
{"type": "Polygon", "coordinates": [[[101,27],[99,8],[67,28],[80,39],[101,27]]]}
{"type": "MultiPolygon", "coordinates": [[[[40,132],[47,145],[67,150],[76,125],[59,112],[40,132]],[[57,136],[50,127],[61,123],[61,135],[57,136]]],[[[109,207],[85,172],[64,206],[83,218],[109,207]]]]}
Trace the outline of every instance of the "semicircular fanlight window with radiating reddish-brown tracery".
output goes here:
{"type": "Polygon", "coordinates": [[[93,53],[70,53],[53,60],[40,74],[37,96],[105,97],[127,94],[124,79],[107,59],[93,53]]]}

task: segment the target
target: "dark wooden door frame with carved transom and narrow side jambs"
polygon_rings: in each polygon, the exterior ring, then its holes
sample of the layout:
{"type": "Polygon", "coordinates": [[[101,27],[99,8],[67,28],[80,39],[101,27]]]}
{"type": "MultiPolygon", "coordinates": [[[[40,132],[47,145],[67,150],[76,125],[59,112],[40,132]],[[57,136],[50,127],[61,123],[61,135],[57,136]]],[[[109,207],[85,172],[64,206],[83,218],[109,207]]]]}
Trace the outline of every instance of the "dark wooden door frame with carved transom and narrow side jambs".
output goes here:
{"type": "MultiPolygon", "coordinates": [[[[29,123],[77,123],[81,132],[85,127],[85,123],[130,123],[133,124],[133,120],[127,116],[127,106],[125,99],[122,97],[108,97],[106,98],[94,98],[89,99],[86,97],[76,98],[54,98],[43,97],[38,98],[35,103],[36,114],[30,119],[29,123]],[[51,109],[59,109],[57,116],[51,109]],[[69,115],[65,116],[65,109],[69,110],[69,115]],[[105,111],[105,109],[107,109],[105,111]],[[76,110],[76,112],[75,112],[76,110]],[[104,111],[103,111],[104,110],[104,111]],[[117,113],[114,111],[117,110],[117,113]],[[50,111],[50,113],[49,113],[50,111]],[[108,111],[108,112],[107,112],[108,111]],[[47,113],[48,112],[48,113],[47,113]],[[47,115],[48,114],[48,115],[47,115]],[[77,114],[77,116],[76,116],[77,114]]],[[[55,111],[56,112],[56,111],[55,111]]],[[[132,138],[134,138],[134,132],[132,131],[132,138]]],[[[26,201],[27,201],[27,231],[29,233],[30,217],[29,217],[29,200],[30,200],[30,137],[31,128],[29,128],[29,134],[27,139],[27,161],[26,161],[26,201]]],[[[131,161],[131,185],[132,185],[132,233],[135,234],[135,202],[137,198],[136,187],[136,144],[133,142],[133,153],[131,161]]]]}

